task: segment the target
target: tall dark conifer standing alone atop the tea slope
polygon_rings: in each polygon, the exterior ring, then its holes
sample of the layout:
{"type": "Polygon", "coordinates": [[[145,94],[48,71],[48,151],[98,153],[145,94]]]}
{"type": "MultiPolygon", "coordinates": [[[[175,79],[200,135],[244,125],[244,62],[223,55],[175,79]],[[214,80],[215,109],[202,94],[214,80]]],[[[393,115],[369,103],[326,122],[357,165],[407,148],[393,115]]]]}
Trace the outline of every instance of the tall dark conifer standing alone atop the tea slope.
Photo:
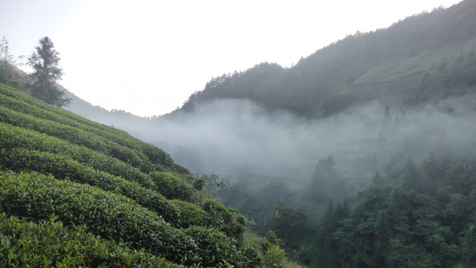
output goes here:
{"type": "Polygon", "coordinates": [[[59,53],[54,50],[54,44],[48,37],[39,39],[39,45],[28,58],[28,64],[34,69],[29,74],[31,96],[50,105],[67,106],[70,99],[64,96],[63,90],[56,87],[56,81],[63,76],[63,69],[59,66],[59,53]]]}

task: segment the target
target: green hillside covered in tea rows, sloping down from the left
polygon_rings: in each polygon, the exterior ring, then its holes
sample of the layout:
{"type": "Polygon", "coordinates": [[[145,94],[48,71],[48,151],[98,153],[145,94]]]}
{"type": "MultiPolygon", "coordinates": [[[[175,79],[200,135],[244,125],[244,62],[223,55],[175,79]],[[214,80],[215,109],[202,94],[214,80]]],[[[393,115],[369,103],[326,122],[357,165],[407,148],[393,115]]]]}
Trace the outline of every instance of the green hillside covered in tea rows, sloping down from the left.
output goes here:
{"type": "Polygon", "coordinates": [[[122,130],[0,84],[0,133],[1,267],[256,267],[280,254],[122,130]]]}

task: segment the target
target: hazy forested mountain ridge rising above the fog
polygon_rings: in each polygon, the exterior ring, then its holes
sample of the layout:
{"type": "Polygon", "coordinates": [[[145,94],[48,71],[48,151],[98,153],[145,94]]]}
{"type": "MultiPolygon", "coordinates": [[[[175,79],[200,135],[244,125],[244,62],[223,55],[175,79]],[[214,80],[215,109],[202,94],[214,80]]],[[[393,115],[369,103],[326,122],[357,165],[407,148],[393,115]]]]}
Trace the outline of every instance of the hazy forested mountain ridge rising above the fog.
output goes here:
{"type": "Polygon", "coordinates": [[[476,1],[466,0],[388,29],[357,32],[290,68],[260,63],[224,74],[174,113],[213,99],[246,98],[271,110],[315,118],[372,100],[403,107],[474,93],[475,17],[476,1]]]}

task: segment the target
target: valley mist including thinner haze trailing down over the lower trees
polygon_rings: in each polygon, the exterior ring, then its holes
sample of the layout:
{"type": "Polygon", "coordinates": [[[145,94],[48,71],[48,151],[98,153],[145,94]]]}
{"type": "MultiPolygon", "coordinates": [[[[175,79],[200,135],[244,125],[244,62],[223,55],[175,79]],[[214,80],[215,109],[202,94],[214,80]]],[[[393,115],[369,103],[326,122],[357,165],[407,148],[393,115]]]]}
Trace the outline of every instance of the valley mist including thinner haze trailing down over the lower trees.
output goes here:
{"type": "Polygon", "coordinates": [[[230,189],[215,197],[265,235],[282,205],[313,226],[330,200],[357,205],[377,172],[386,180],[388,163],[410,157],[420,166],[432,153],[474,159],[475,116],[471,98],[406,108],[373,101],[313,120],[246,99],[217,99],[119,127],[194,174],[218,175],[230,189]]]}

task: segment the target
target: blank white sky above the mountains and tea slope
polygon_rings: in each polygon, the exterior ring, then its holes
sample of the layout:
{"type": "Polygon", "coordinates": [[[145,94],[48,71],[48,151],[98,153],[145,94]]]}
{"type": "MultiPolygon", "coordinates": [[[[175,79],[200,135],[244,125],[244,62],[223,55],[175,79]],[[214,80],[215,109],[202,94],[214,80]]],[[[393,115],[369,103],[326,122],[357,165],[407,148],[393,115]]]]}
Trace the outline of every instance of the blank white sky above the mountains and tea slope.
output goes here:
{"type": "Polygon", "coordinates": [[[338,39],[461,0],[0,0],[0,38],[28,56],[48,36],[60,83],[92,105],[170,113],[213,77],[291,66],[338,39]]]}

